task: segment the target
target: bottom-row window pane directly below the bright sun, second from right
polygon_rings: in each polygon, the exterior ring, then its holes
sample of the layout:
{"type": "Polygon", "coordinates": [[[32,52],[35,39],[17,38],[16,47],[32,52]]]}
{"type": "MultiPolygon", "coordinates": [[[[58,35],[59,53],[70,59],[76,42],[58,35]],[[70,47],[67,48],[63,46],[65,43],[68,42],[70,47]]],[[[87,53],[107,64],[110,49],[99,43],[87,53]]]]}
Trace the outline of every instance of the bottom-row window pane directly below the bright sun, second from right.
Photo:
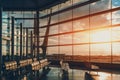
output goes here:
{"type": "Polygon", "coordinates": [[[111,62],[111,44],[91,44],[91,62],[111,62]]]}

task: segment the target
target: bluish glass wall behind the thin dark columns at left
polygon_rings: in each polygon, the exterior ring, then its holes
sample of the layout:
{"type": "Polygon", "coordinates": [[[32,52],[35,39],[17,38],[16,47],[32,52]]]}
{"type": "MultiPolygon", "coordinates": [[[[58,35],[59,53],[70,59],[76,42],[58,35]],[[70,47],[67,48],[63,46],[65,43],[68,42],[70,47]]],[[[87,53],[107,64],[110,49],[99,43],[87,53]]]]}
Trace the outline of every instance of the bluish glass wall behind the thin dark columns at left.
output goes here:
{"type": "Polygon", "coordinates": [[[14,55],[20,56],[20,23],[22,23],[22,54],[26,56],[26,28],[28,28],[28,55],[31,55],[31,35],[30,32],[33,29],[29,29],[29,27],[33,28],[34,20],[25,20],[25,19],[16,19],[16,18],[34,18],[34,12],[12,12],[5,11],[3,12],[3,30],[2,30],[2,52],[3,56],[5,56],[5,60],[10,60],[11,56],[11,17],[15,18],[14,20],[14,55]],[[9,59],[8,59],[9,58],[9,59]]]}

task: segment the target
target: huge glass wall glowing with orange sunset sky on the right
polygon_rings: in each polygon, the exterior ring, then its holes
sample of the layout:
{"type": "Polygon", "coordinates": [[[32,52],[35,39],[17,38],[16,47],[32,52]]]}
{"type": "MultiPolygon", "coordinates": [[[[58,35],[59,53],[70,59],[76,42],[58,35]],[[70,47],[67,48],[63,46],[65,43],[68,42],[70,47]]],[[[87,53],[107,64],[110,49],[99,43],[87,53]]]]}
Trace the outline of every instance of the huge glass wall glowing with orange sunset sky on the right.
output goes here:
{"type": "MultiPolygon", "coordinates": [[[[53,13],[87,1],[89,0],[70,0],[53,7],[53,13]]],[[[47,14],[49,13],[45,13],[47,14]]],[[[43,17],[40,21],[41,44],[45,37],[48,18],[49,16],[43,17]]],[[[53,14],[47,54],[64,54],[66,60],[73,61],[119,63],[119,18],[119,0],[96,0],[53,14]]]]}

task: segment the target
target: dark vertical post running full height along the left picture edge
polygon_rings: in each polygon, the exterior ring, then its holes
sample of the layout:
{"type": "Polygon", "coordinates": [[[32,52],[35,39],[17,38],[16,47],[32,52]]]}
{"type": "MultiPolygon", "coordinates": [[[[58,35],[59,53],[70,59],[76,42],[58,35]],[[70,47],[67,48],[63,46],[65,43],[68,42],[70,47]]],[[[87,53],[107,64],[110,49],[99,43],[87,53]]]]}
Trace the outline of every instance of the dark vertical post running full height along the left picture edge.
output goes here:
{"type": "Polygon", "coordinates": [[[0,80],[2,77],[2,0],[0,0],[0,80]]]}

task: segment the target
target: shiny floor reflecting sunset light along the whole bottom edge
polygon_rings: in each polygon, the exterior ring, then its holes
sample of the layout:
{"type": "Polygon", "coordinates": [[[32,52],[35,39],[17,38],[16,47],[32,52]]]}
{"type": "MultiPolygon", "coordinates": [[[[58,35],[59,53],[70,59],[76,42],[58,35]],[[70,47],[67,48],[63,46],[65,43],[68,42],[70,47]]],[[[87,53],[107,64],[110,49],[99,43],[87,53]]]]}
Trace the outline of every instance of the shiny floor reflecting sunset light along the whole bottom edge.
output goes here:
{"type": "MultiPolygon", "coordinates": [[[[70,69],[68,74],[62,75],[60,68],[50,67],[50,72],[45,76],[42,70],[38,75],[22,75],[22,79],[15,80],[120,80],[120,73],[107,73],[86,70],[70,69]]],[[[12,79],[12,78],[11,78],[12,79]]],[[[11,80],[10,78],[8,80],[11,80]]],[[[12,79],[13,80],[13,79],[12,79]]]]}

